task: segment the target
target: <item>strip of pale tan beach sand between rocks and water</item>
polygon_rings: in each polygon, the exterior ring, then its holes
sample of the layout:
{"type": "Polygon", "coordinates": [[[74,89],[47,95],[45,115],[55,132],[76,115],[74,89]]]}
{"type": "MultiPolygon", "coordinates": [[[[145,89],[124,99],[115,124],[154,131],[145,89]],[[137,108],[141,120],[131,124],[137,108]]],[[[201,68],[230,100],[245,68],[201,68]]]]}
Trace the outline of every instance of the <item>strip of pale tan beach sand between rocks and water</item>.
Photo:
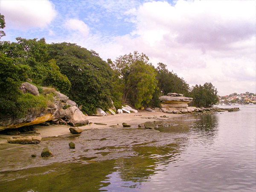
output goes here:
{"type": "MultiPolygon", "coordinates": [[[[155,121],[160,119],[168,119],[175,116],[181,116],[182,114],[168,114],[163,112],[148,112],[148,111],[139,111],[138,113],[121,113],[116,115],[108,116],[87,116],[90,124],[81,126],[81,129],[90,129],[90,128],[123,128],[122,123],[128,123],[131,125],[131,128],[137,128],[139,124],[147,121],[155,121]],[[166,117],[163,117],[166,116],[166,117]],[[97,125],[97,124],[100,125],[97,125]],[[105,124],[105,125],[103,125],[105,124]]],[[[42,138],[44,137],[57,137],[60,135],[70,134],[69,128],[67,125],[49,125],[49,126],[40,126],[34,125],[36,132],[39,133],[42,138]]],[[[7,139],[12,137],[10,135],[1,135],[0,134],[0,143],[7,143],[7,139]]]]}

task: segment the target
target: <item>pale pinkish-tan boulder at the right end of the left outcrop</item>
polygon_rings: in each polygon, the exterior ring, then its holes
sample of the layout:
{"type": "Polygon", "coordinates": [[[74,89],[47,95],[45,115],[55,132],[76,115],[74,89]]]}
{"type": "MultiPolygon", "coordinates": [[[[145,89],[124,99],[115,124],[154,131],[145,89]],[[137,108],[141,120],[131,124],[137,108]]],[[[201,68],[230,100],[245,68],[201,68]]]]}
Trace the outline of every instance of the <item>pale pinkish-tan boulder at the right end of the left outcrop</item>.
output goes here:
{"type": "Polygon", "coordinates": [[[73,122],[76,126],[87,125],[89,123],[89,121],[86,119],[86,116],[76,106],[69,107],[64,111],[66,118],[73,122]]]}

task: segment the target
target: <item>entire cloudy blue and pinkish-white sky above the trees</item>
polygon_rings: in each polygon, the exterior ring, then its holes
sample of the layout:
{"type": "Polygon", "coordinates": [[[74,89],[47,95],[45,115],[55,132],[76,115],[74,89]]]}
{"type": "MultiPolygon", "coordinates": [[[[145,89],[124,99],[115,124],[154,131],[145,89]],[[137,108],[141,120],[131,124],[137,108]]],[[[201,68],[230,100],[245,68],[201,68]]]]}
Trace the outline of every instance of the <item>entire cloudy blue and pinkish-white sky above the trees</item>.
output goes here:
{"type": "Polygon", "coordinates": [[[103,60],[145,53],[190,86],[256,93],[256,0],[0,0],[6,36],[76,43],[103,60]]]}

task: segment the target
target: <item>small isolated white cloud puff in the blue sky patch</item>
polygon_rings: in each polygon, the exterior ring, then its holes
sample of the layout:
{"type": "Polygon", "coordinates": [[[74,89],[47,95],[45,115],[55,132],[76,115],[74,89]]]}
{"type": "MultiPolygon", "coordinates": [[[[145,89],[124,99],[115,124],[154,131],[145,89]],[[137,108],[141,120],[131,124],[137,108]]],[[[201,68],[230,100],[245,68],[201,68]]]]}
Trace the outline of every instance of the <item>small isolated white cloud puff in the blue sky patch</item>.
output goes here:
{"type": "Polygon", "coordinates": [[[87,36],[90,31],[89,27],[82,20],[78,19],[67,20],[65,26],[68,29],[79,31],[83,36],[87,36]]]}

